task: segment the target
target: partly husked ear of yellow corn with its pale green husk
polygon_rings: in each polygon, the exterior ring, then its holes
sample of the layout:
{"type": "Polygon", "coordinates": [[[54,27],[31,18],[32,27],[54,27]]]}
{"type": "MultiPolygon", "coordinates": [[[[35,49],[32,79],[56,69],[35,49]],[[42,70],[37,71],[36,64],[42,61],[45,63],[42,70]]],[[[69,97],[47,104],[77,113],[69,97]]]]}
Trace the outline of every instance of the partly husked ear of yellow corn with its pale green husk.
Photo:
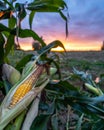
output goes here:
{"type": "MultiPolygon", "coordinates": [[[[2,104],[0,105],[0,130],[4,130],[5,126],[12,121],[16,116],[18,116],[26,107],[36,98],[36,96],[44,89],[44,87],[49,83],[50,76],[44,71],[45,65],[37,65],[36,62],[39,60],[41,55],[39,55],[33,64],[25,71],[24,75],[21,79],[10,89],[8,94],[5,96],[2,104]],[[41,69],[40,69],[41,68],[41,69]],[[38,83],[41,81],[41,84],[38,83]],[[29,78],[30,77],[30,78],[29,78]],[[32,79],[32,80],[31,80],[32,79]],[[31,82],[30,82],[31,81],[31,82]],[[20,86],[31,86],[31,90],[22,95],[22,99],[17,100],[14,98],[17,94],[19,94],[19,90],[17,91],[20,86]],[[38,87],[36,87],[38,86],[38,87]],[[14,99],[16,100],[15,103],[14,99]]],[[[24,87],[23,87],[24,88],[24,87]]],[[[22,89],[24,90],[24,89],[22,89]]]]}

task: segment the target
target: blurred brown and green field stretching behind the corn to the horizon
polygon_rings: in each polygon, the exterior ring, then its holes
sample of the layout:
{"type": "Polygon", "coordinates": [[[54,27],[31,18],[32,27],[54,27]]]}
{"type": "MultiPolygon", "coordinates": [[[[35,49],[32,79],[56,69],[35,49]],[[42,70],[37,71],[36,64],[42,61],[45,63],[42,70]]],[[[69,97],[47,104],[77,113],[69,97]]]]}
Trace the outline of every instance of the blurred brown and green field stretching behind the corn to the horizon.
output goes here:
{"type": "MultiPolygon", "coordinates": [[[[73,67],[88,72],[93,79],[104,74],[104,51],[54,52],[59,56],[62,77],[73,72],[73,67]]],[[[52,53],[52,55],[54,55],[52,53]]],[[[24,56],[35,54],[34,51],[15,51],[9,55],[10,64],[15,66],[24,56]]]]}

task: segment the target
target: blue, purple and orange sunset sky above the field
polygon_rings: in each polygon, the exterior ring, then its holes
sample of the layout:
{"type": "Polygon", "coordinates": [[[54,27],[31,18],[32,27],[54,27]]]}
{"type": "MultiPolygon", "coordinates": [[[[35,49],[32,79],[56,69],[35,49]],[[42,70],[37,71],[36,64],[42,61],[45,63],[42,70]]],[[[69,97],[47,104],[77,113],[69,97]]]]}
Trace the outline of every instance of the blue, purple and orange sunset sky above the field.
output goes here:
{"type": "MultiPolygon", "coordinates": [[[[58,39],[67,50],[99,50],[104,40],[104,0],[65,1],[70,15],[67,39],[65,21],[57,13],[37,13],[33,21],[33,30],[42,36],[47,44],[58,39]]],[[[22,27],[28,27],[28,18],[22,27]]],[[[23,39],[21,47],[30,49],[32,41],[23,39]]]]}

